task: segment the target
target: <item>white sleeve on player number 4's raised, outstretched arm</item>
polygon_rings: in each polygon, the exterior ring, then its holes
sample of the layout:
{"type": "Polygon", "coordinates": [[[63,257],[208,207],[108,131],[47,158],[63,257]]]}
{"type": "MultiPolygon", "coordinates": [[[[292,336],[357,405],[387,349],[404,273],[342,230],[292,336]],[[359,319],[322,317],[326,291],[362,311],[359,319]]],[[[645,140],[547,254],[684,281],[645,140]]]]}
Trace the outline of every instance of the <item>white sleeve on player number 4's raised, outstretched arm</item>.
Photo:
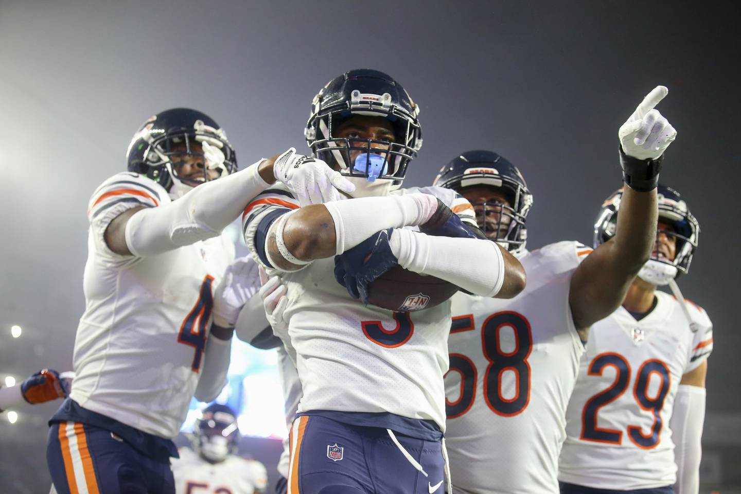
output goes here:
{"type": "Polygon", "coordinates": [[[167,250],[218,236],[268,183],[257,173],[262,160],[194,187],[162,207],[139,210],[126,224],[126,244],[134,256],[154,256],[167,250]]]}

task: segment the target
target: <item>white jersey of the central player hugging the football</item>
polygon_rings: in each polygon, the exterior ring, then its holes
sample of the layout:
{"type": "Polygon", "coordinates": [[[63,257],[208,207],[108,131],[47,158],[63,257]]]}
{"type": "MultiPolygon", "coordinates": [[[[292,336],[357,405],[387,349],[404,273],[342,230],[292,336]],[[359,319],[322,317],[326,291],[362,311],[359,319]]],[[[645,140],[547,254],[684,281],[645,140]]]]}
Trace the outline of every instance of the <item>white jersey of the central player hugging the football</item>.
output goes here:
{"type": "MultiPolygon", "coordinates": [[[[475,221],[471,204],[453,190],[415,187],[392,194],[414,192],[439,197],[459,216],[475,221]]],[[[298,204],[285,189],[273,187],[247,206],[246,239],[253,253],[260,219],[275,208],[298,204]]],[[[267,268],[268,274],[276,273],[267,268]]],[[[288,287],[285,318],[303,390],[299,412],[386,412],[433,420],[445,430],[442,375],[448,370],[450,301],[411,313],[365,307],[337,283],[331,257],[279,274],[288,287]]]]}

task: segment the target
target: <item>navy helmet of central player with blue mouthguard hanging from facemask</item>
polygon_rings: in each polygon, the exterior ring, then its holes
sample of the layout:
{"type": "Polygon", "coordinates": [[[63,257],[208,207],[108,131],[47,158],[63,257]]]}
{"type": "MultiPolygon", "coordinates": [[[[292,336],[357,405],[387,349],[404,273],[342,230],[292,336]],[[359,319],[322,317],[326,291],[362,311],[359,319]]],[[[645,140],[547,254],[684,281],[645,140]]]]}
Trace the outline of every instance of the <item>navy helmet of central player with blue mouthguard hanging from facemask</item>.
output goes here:
{"type": "Polygon", "coordinates": [[[343,175],[367,181],[382,178],[398,187],[409,161],[422,147],[418,116],[419,107],[390,76],[377,70],[350,70],[329,81],[314,96],[304,134],[313,156],[343,175]],[[388,119],[396,141],[337,138],[337,127],[353,115],[388,119]],[[360,152],[354,162],[350,157],[353,151],[360,152]]]}

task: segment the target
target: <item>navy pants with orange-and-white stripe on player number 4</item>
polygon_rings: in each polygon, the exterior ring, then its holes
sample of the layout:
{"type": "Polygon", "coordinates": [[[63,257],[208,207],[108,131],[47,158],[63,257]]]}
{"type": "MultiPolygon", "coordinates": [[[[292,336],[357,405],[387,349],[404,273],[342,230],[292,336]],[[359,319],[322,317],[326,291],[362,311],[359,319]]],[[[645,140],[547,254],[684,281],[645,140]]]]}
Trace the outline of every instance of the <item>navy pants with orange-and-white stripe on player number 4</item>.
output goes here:
{"type": "Polygon", "coordinates": [[[47,464],[59,494],[175,494],[169,461],[153,460],[110,431],[80,422],[52,424],[47,464]]]}

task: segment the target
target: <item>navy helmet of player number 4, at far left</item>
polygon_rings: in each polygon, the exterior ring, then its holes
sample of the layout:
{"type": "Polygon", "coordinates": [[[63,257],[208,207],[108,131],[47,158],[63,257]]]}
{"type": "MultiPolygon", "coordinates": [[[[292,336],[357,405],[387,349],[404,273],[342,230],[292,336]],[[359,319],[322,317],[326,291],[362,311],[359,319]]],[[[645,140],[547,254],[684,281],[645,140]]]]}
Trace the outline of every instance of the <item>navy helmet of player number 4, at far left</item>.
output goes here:
{"type": "Polygon", "coordinates": [[[224,130],[210,116],[190,108],[173,108],[150,116],[136,131],[128,150],[128,170],[141,173],[156,181],[170,192],[170,196],[182,196],[190,187],[208,180],[204,167],[203,180],[177,176],[173,169],[173,156],[200,156],[205,160],[200,146],[193,144],[208,142],[224,153],[224,165],[220,176],[236,171],[236,155],[224,130]],[[173,189],[175,185],[175,189],[173,189]]]}

